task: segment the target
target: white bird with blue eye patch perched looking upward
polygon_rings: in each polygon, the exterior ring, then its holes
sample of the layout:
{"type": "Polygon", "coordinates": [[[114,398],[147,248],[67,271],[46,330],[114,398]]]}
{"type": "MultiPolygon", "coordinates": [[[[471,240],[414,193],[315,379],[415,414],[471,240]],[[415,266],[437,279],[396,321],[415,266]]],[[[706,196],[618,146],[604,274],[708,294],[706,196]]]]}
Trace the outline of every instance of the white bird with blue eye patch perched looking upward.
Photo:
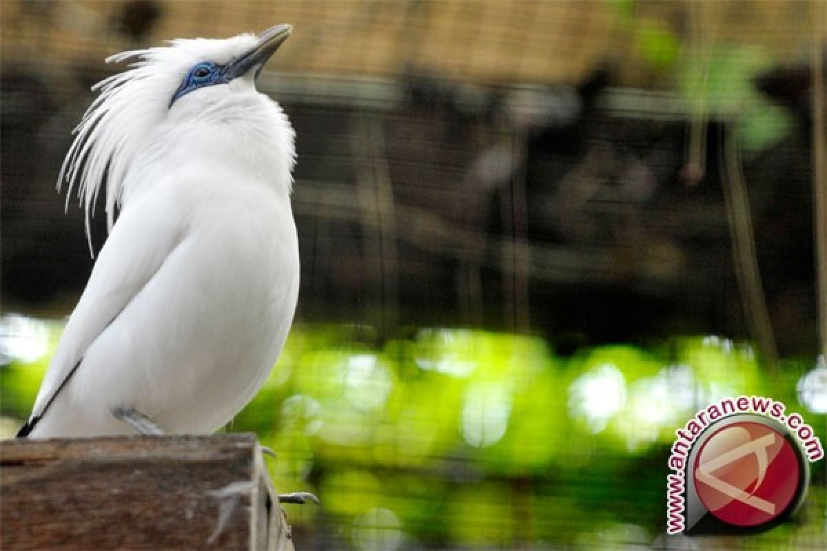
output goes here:
{"type": "Polygon", "coordinates": [[[255,80],[291,30],[108,58],[132,63],[93,87],[58,188],[88,234],[105,183],[110,233],[18,436],[210,433],[265,382],[299,245],[294,131],[255,80]]]}

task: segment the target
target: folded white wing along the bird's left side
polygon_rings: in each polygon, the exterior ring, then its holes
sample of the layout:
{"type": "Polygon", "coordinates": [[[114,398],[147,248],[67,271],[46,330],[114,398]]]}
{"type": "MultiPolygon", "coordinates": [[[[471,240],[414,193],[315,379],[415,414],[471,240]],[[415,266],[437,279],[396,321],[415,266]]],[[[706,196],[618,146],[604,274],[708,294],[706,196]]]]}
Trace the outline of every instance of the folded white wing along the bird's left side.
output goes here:
{"type": "Polygon", "coordinates": [[[43,416],[83,361],[89,345],[155,275],[184,238],[184,222],[170,202],[146,193],[136,197],[112,228],[92,275],[66,325],[45,374],[29,428],[43,416]]]}

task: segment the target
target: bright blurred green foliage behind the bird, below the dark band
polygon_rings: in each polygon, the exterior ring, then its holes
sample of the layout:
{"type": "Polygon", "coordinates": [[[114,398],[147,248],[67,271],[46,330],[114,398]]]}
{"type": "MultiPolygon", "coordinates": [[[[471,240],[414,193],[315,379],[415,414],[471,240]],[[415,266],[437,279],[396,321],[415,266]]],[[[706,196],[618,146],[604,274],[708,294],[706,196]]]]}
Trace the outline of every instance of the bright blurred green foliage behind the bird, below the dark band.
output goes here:
{"type": "MultiPolygon", "coordinates": [[[[48,327],[53,349],[60,324],[48,327]]],[[[2,415],[26,416],[47,359],[0,368],[2,415]]],[[[298,326],[228,430],[275,449],[275,487],[318,493],[322,508],[291,522],[327,526],[337,548],[601,549],[662,531],[674,430],[710,401],[773,397],[824,438],[827,417],[796,394],[808,369],[771,378],[748,345],[718,337],[562,357],[533,336],[423,329],[377,344],[370,328],[298,326]]],[[[819,537],[815,469],[805,520],[756,542],[819,537]]]]}

